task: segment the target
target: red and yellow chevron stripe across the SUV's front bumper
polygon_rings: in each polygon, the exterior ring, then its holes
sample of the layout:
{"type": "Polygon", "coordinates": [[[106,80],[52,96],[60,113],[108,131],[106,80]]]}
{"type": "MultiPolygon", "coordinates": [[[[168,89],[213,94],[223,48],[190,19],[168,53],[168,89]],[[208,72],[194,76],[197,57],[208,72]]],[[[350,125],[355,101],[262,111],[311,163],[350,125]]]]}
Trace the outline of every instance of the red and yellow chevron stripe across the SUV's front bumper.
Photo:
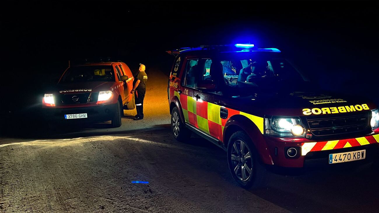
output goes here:
{"type": "Polygon", "coordinates": [[[341,149],[346,147],[363,146],[374,143],[379,143],[379,134],[337,141],[308,142],[301,144],[301,155],[304,156],[308,152],[341,149]]]}

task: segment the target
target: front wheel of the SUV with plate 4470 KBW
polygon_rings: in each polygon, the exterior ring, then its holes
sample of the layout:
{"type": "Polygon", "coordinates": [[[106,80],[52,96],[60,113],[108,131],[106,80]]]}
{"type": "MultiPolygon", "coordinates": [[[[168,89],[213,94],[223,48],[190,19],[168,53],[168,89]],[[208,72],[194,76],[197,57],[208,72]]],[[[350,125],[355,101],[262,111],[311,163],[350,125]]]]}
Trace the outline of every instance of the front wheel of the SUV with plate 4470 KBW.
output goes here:
{"type": "Polygon", "coordinates": [[[243,188],[266,186],[267,171],[260,163],[258,153],[245,132],[238,131],[230,137],[227,158],[230,173],[243,188]]]}

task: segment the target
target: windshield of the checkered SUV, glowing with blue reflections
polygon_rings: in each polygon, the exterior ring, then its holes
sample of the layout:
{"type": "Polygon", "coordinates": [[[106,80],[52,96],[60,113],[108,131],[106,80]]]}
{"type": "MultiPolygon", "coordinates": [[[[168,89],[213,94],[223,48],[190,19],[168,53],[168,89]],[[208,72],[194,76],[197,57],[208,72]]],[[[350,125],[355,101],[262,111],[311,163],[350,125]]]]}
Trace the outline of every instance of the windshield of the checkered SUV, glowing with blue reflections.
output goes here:
{"type": "Polygon", "coordinates": [[[222,74],[230,87],[277,88],[282,83],[304,81],[284,58],[273,53],[257,53],[222,58],[222,74]]]}

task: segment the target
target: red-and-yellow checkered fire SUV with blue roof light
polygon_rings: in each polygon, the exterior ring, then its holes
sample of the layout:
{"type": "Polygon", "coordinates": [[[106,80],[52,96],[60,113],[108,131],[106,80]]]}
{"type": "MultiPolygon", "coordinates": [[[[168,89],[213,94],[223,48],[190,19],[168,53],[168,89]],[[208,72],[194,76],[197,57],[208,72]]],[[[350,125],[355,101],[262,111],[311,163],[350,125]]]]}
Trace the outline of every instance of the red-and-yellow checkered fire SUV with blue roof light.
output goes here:
{"type": "Polygon", "coordinates": [[[377,160],[377,107],[360,97],[309,90],[280,50],[236,44],[168,53],[176,56],[168,82],[174,138],[194,132],[222,147],[240,185],[260,186],[266,165],[377,160]]]}

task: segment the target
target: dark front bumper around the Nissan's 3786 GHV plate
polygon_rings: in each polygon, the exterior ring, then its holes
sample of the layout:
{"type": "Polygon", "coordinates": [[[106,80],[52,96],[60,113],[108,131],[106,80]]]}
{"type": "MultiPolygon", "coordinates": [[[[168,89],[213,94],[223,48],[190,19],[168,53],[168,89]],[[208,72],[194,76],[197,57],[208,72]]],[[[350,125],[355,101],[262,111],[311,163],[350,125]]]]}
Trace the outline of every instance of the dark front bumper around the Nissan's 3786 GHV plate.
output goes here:
{"type": "Polygon", "coordinates": [[[73,124],[80,122],[102,122],[109,121],[113,118],[117,110],[117,103],[103,104],[91,107],[70,107],[70,108],[44,108],[44,117],[49,122],[62,122],[64,124],[73,124]],[[64,119],[65,114],[82,114],[87,113],[86,118],[82,119],[64,119]]]}

